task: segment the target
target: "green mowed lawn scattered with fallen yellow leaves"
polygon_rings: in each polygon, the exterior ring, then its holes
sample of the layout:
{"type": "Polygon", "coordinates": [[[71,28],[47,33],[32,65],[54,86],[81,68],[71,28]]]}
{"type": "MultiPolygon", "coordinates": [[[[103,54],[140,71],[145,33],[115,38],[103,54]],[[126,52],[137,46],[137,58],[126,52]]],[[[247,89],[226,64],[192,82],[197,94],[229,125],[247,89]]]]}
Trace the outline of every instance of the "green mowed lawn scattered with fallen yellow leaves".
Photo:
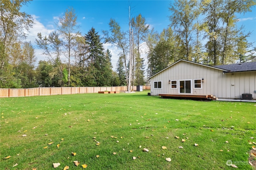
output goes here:
{"type": "Polygon", "coordinates": [[[162,99],[147,92],[1,98],[0,169],[52,170],[57,162],[56,170],[82,164],[90,170],[233,169],[227,160],[253,169],[248,157],[249,141],[256,142],[256,103],[162,99]]]}

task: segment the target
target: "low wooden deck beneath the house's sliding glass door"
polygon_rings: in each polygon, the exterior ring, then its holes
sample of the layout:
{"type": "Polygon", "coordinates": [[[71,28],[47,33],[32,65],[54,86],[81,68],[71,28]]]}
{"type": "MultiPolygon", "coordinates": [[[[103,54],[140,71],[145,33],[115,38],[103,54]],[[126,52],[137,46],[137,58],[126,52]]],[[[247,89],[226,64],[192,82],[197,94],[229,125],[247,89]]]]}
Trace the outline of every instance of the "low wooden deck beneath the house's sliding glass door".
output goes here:
{"type": "Polygon", "coordinates": [[[162,98],[172,99],[192,99],[192,100],[217,100],[216,96],[211,94],[158,94],[162,98]]]}

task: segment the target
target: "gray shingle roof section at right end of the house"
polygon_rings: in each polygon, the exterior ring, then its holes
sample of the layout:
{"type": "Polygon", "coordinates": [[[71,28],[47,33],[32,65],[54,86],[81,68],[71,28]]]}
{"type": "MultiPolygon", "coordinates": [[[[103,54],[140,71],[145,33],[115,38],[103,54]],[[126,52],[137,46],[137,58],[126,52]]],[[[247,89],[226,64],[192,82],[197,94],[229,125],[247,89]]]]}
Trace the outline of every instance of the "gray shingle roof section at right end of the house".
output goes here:
{"type": "Polygon", "coordinates": [[[214,67],[228,70],[228,72],[255,71],[256,62],[218,65],[214,67]]]}

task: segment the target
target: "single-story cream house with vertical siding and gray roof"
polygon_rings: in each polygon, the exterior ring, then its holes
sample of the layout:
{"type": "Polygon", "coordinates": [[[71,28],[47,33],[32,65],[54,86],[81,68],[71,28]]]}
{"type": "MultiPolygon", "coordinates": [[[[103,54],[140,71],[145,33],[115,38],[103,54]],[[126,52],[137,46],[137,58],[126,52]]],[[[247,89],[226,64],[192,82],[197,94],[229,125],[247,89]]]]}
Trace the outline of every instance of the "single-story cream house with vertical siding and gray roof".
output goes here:
{"type": "Polygon", "coordinates": [[[153,96],[207,94],[219,99],[256,99],[256,62],[208,66],[181,59],[149,79],[153,96]]]}

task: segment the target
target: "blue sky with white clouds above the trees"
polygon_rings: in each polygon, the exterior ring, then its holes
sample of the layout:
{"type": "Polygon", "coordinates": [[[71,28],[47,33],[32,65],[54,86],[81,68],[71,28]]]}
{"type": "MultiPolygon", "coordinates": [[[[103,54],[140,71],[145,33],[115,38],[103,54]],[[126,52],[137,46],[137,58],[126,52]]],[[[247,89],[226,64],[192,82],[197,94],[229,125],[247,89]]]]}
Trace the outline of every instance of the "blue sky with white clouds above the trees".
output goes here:
{"type": "MultiPolygon", "coordinates": [[[[23,6],[21,11],[32,15],[36,23],[28,33],[27,41],[31,41],[36,48],[36,57],[39,61],[47,58],[41,55],[42,51],[37,49],[34,43],[37,33],[41,32],[42,35],[48,35],[55,31],[58,17],[63,16],[68,7],[73,7],[76,10],[82,35],[85,35],[92,27],[102,35],[102,30],[109,29],[110,18],[120,23],[122,30],[128,31],[129,5],[131,17],[142,14],[150,28],[154,27],[160,33],[170,24],[168,16],[171,15],[171,12],[168,7],[173,2],[168,0],[34,0],[27,6],[23,6]]],[[[254,46],[256,46],[256,7],[252,8],[252,12],[242,14],[238,18],[240,19],[238,26],[244,25],[246,32],[252,32],[249,42],[254,42],[254,46]]],[[[111,50],[112,65],[115,70],[118,50],[108,44],[105,44],[104,47],[111,50]]]]}

